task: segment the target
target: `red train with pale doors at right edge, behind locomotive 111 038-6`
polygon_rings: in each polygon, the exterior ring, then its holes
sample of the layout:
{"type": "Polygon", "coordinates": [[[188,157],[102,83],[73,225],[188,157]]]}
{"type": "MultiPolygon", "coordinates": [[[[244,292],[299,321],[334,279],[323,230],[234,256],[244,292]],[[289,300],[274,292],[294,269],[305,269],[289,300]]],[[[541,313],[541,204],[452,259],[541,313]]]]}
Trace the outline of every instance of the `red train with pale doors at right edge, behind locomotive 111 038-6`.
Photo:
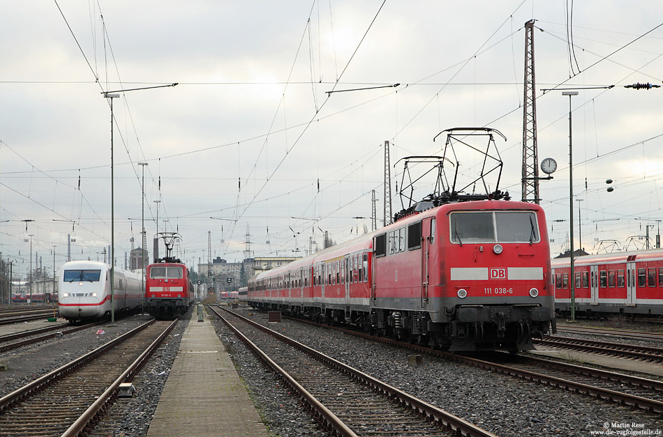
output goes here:
{"type": "Polygon", "coordinates": [[[551,260],[555,306],[571,313],[569,281],[574,281],[576,314],[663,315],[663,250],[641,250],[551,260]]]}

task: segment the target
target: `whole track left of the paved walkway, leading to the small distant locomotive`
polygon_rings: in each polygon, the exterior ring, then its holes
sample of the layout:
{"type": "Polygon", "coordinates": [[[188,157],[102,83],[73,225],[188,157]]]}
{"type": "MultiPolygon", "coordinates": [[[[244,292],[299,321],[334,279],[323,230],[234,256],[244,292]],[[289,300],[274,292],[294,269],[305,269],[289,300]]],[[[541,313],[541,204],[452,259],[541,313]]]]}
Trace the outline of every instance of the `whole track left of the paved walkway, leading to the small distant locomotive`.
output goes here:
{"type": "Polygon", "coordinates": [[[176,323],[151,320],[0,398],[0,436],[79,435],[176,323]]]}

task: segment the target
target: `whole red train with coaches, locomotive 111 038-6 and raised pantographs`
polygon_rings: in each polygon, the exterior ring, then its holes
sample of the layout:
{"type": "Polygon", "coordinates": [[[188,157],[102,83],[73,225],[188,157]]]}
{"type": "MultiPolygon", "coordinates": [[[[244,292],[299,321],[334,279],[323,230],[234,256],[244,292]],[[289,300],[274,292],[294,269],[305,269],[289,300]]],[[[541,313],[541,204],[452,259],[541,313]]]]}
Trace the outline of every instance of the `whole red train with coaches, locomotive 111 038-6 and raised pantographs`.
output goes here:
{"type": "MultiPolygon", "coordinates": [[[[463,142],[459,133],[488,135],[489,146],[493,132],[501,135],[487,128],[445,132],[447,148],[463,142]]],[[[442,191],[444,156],[404,158],[403,178],[408,164],[431,158],[438,160],[433,194],[419,202],[410,196],[410,206],[378,231],[251,278],[250,305],[450,351],[532,349],[532,336],[554,323],[544,211],[498,190],[459,194],[458,162],[454,187],[442,191]]],[[[482,175],[492,171],[486,162],[482,175]]],[[[401,198],[407,190],[402,183],[401,198]]]]}

